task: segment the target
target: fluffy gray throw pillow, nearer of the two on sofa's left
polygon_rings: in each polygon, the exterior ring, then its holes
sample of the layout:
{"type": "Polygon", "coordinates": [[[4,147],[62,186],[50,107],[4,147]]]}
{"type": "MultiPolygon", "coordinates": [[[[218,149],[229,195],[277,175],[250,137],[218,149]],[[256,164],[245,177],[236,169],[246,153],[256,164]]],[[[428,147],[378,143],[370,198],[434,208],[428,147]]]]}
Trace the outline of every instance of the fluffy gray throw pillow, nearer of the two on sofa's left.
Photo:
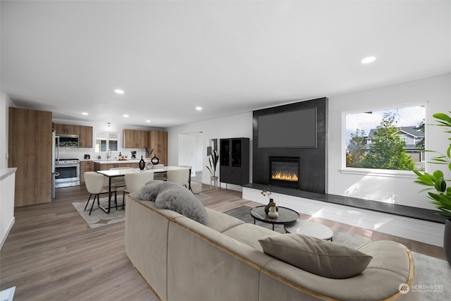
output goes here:
{"type": "Polygon", "coordinates": [[[155,199],[155,207],[173,210],[189,219],[206,225],[208,223],[208,214],[204,204],[185,186],[175,183],[171,184],[170,186],[160,187],[159,195],[155,199]]]}

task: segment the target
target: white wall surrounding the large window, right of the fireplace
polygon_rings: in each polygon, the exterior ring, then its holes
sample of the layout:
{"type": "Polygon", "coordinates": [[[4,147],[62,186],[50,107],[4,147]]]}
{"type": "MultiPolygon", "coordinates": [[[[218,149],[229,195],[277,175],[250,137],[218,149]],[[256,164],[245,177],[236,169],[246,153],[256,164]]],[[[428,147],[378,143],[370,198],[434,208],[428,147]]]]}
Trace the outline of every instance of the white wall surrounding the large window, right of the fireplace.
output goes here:
{"type": "MultiPolygon", "coordinates": [[[[399,196],[399,204],[433,209],[424,193],[419,194],[421,186],[414,183],[414,173],[406,176],[373,176],[370,174],[342,173],[344,158],[344,137],[342,135],[342,112],[352,110],[375,109],[385,106],[402,106],[419,102],[428,102],[428,117],[433,113],[451,111],[451,75],[404,82],[397,85],[380,87],[362,92],[344,94],[329,98],[328,113],[328,193],[345,195],[381,202],[391,202],[392,195],[399,196]]],[[[443,128],[428,126],[435,123],[433,118],[426,119],[426,149],[445,152],[449,141],[443,128]],[[427,145],[428,144],[428,145],[427,145]]],[[[447,169],[446,166],[426,164],[431,168],[447,169]]],[[[433,169],[433,170],[435,170],[433,169]]],[[[450,178],[450,176],[448,176],[450,178]]]]}

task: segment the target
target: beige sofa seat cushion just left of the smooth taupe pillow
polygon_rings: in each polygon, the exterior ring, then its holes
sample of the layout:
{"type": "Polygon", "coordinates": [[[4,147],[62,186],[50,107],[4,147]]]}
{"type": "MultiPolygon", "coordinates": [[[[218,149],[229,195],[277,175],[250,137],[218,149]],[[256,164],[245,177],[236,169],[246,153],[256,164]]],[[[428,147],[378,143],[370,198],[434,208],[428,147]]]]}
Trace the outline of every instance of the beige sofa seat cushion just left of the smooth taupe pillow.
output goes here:
{"type": "Polygon", "coordinates": [[[259,239],[265,238],[268,235],[285,235],[261,226],[254,225],[252,223],[242,223],[241,225],[224,231],[223,234],[227,235],[230,238],[238,240],[239,242],[242,242],[249,247],[253,247],[260,252],[263,252],[263,248],[259,243],[259,239]]]}

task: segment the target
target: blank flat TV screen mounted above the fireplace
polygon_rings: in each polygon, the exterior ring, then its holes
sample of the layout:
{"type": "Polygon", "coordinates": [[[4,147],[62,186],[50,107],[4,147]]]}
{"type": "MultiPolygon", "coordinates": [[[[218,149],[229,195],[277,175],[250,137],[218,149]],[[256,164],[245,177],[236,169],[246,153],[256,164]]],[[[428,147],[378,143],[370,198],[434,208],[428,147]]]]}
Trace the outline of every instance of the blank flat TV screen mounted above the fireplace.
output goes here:
{"type": "Polygon", "coordinates": [[[259,147],[316,147],[316,108],[258,117],[259,147]]]}

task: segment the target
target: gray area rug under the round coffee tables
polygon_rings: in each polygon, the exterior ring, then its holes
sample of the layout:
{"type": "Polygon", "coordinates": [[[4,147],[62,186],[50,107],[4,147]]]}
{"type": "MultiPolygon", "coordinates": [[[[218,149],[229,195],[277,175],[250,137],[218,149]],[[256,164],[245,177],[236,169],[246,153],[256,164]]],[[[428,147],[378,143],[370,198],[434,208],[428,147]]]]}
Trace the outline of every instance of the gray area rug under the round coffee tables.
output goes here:
{"type": "MultiPolygon", "coordinates": [[[[240,206],[224,213],[234,216],[245,223],[254,223],[254,219],[249,214],[251,209],[251,207],[240,206]]],[[[272,229],[272,225],[270,223],[261,223],[259,221],[256,223],[264,228],[272,229]]],[[[279,233],[285,233],[285,230],[281,225],[276,225],[274,230],[279,233]]],[[[333,233],[333,242],[346,245],[347,247],[359,247],[359,245],[363,245],[369,241],[370,240],[349,235],[347,233],[333,233]]],[[[451,266],[442,259],[437,259],[416,252],[412,252],[412,255],[415,261],[419,285],[416,285],[410,289],[419,291],[421,301],[451,300],[451,266]]]]}

